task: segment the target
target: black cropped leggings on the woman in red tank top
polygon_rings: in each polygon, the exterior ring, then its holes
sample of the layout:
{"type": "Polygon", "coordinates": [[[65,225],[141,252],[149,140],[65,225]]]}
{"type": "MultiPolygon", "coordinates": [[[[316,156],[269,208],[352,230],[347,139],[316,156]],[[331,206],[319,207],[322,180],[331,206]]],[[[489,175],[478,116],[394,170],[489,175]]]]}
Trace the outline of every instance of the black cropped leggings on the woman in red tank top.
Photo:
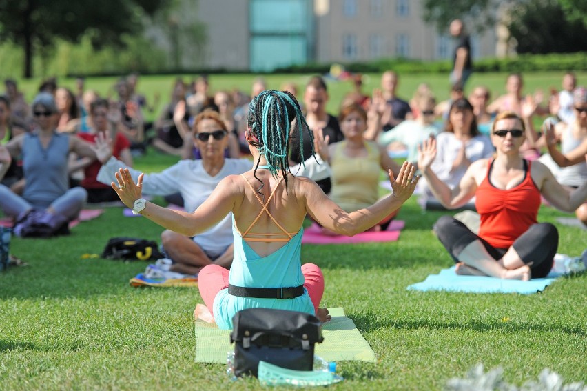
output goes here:
{"type": "MultiPolygon", "coordinates": [[[[478,240],[487,252],[497,261],[507,252],[507,248],[495,248],[469,230],[461,221],[451,216],[443,216],[436,221],[434,230],[444,248],[458,262],[462,250],[478,240]]],[[[559,246],[559,232],[550,223],[533,224],[517,238],[512,247],[525,264],[531,263],[532,278],[546,277],[553,267],[553,258],[559,246]]]]}

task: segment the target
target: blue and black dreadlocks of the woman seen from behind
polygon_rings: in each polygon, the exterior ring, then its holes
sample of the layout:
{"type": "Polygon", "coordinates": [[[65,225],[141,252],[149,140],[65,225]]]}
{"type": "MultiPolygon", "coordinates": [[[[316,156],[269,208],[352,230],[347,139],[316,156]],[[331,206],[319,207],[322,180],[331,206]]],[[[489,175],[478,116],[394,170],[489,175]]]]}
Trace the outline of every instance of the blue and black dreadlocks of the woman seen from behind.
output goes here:
{"type": "MultiPolygon", "coordinates": [[[[309,130],[308,124],[300,104],[296,97],[287,91],[265,90],[253,98],[249,103],[249,132],[252,132],[258,142],[251,143],[267,160],[269,172],[275,178],[278,172],[285,181],[287,192],[287,172],[289,172],[289,132],[291,122],[296,120],[296,131],[300,140],[300,161],[305,161],[304,149],[301,148],[302,133],[309,132],[313,154],[313,134],[309,130]]],[[[256,172],[259,166],[260,156],[256,162],[254,177],[260,181],[261,186],[258,192],[263,188],[263,183],[257,178],[256,172]]]]}

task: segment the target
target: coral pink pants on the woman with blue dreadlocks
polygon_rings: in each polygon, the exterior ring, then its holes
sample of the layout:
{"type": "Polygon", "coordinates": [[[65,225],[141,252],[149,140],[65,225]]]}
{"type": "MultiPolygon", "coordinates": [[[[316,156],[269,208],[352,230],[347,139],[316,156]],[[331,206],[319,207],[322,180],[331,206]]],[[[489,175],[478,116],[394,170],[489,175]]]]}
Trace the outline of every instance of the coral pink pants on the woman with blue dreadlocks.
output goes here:
{"type": "MultiPolygon", "coordinates": [[[[314,312],[318,312],[318,305],[324,294],[324,275],[322,270],[313,263],[302,265],[302,274],[304,274],[304,288],[314,305],[314,312]]],[[[218,265],[207,265],[198,274],[198,289],[204,304],[214,315],[214,298],[220,290],[228,288],[228,270],[218,265]]]]}

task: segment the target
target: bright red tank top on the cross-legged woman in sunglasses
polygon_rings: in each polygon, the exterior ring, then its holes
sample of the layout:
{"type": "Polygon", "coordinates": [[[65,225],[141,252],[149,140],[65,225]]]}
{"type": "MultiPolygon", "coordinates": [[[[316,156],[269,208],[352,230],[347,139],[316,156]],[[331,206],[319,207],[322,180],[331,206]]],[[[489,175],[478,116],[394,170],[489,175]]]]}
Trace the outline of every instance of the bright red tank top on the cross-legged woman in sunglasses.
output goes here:
{"type": "Polygon", "coordinates": [[[531,162],[524,160],[522,183],[508,190],[495,188],[487,175],[475,192],[475,207],[481,215],[479,236],[495,248],[509,248],[532,224],[540,208],[540,190],[530,175],[531,162]]]}

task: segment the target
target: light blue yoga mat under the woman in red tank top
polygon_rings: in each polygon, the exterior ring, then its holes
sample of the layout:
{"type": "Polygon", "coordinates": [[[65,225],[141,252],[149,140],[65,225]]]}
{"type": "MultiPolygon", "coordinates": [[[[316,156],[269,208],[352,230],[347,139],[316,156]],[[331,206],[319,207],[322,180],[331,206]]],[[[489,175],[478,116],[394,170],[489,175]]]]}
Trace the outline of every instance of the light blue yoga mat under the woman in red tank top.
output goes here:
{"type": "Polygon", "coordinates": [[[460,276],[455,267],[440,270],[438,274],[430,274],[420,283],[408,286],[409,290],[445,290],[449,292],[469,293],[519,293],[532,294],[542,292],[556,278],[531,279],[517,281],[497,279],[495,277],[460,276]]]}

